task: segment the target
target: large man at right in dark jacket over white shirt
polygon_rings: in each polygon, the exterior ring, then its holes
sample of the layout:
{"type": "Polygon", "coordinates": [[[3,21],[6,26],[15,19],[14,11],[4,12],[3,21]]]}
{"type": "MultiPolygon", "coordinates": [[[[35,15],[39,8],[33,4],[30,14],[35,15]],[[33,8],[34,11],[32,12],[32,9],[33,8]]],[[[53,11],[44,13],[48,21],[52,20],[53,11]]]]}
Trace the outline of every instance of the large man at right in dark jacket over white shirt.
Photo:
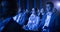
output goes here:
{"type": "Polygon", "coordinates": [[[53,12],[53,8],[54,4],[52,2],[46,3],[46,14],[43,15],[40,23],[41,32],[58,32],[60,30],[59,16],[53,12]]]}

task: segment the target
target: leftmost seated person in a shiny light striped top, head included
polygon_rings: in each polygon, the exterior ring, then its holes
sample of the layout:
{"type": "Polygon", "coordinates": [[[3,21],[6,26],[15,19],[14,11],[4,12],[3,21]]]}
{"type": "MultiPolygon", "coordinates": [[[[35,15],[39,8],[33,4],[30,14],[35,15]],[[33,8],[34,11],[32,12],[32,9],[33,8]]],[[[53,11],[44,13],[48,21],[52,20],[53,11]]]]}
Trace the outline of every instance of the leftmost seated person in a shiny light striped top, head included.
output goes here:
{"type": "Polygon", "coordinates": [[[23,9],[19,8],[17,15],[14,16],[13,19],[17,23],[19,23],[21,26],[25,25],[26,24],[26,19],[27,19],[26,12],[23,9]]]}

